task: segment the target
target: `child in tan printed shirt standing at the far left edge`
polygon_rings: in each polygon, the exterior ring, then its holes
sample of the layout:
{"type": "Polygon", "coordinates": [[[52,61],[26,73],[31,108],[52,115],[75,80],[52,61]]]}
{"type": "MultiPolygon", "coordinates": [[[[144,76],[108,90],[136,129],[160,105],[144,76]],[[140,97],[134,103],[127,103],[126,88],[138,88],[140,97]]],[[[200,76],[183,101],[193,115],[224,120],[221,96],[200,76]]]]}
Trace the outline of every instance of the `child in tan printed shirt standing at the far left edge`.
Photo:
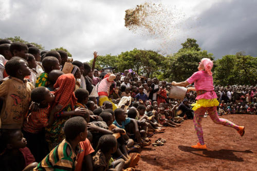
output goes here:
{"type": "Polygon", "coordinates": [[[2,128],[20,129],[27,115],[33,85],[24,79],[30,75],[27,61],[12,58],[5,65],[10,78],[0,85],[0,97],[4,98],[1,111],[2,128]]]}

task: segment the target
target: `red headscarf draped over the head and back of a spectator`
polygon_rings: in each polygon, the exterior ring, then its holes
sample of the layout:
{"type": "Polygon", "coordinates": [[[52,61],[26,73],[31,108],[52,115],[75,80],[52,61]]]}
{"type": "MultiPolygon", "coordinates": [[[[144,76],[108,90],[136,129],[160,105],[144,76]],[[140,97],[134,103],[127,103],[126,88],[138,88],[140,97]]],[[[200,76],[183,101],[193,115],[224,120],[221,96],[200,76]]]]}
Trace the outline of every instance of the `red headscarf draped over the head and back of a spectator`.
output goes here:
{"type": "Polygon", "coordinates": [[[57,79],[53,88],[59,87],[59,89],[53,92],[56,98],[54,99],[52,107],[61,104],[63,107],[60,111],[62,111],[70,103],[72,110],[74,110],[74,105],[77,101],[74,94],[75,83],[75,77],[71,73],[63,74],[57,79]]]}

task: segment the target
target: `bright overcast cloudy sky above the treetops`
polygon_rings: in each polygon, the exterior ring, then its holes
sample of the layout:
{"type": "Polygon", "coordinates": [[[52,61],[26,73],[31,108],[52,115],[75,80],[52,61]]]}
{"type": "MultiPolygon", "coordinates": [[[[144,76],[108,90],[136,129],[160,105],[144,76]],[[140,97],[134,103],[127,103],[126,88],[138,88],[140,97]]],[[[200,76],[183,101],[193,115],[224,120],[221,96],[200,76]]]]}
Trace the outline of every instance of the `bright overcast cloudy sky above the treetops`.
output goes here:
{"type": "Polygon", "coordinates": [[[179,31],[166,46],[148,34],[124,27],[125,10],[144,3],[139,0],[0,0],[0,37],[21,36],[42,44],[46,50],[63,46],[82,62],[100,55],[119,54],[134,48],[175,53],[187,37],[215,59],[245,51],[257,56],[257,1],[152,1],[185,14],[179,31]]]}

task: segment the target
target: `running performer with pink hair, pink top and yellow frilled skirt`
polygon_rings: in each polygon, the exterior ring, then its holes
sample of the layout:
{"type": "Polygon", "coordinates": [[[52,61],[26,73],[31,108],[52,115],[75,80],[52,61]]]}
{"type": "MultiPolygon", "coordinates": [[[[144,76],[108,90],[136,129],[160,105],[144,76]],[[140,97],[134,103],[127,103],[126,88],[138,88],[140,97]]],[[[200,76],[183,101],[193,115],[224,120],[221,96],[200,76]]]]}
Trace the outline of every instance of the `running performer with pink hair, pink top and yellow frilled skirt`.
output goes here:
{"type": "Polygon", "coordinates": [[[207,149],[204,142],[203,129],[201,128],[201,119],[203,119],[206,111],[208,111],[214,123],[232,127],[237,130],[241,136],[245,133],[244,126],[237,126],[229,120],[218,117],[217,106],[219,102],[217,101],[217,95],[213,87],[212,67],[213,62],[208,58],[203,58],[201,62],[199,62],[198,71],[193,73],[189,79],[180,83],[172,82],[173,86],[183,87],[194,83],[194,88],[190,87],[188,90],[197,92],[196,103],[192,104],[192,106],[194,106],[192,109],[194,110],[194,127],[199,143],[191,146],[192,148],[207,149]]]}

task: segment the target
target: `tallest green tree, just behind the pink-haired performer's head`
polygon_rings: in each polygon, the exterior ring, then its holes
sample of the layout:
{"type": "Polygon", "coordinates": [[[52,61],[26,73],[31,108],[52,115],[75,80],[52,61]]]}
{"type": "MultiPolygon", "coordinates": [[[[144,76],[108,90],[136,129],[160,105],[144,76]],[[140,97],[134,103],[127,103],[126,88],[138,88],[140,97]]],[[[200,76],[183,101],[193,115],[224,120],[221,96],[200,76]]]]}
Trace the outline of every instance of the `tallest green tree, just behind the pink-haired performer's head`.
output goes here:
{"type": "Polygon", "coordinates": [[[199,45],[194,39],[187,39],[181,45],[182,48],[177,53],[168,55],[162,64],[164,66],[162,67],[162,77],[167,78],[168,81],[185,81],[198,70],[198,63],[201,59],[214,60],[212,53],[208,53],[206,50],[200,51],[199,45]]]}

